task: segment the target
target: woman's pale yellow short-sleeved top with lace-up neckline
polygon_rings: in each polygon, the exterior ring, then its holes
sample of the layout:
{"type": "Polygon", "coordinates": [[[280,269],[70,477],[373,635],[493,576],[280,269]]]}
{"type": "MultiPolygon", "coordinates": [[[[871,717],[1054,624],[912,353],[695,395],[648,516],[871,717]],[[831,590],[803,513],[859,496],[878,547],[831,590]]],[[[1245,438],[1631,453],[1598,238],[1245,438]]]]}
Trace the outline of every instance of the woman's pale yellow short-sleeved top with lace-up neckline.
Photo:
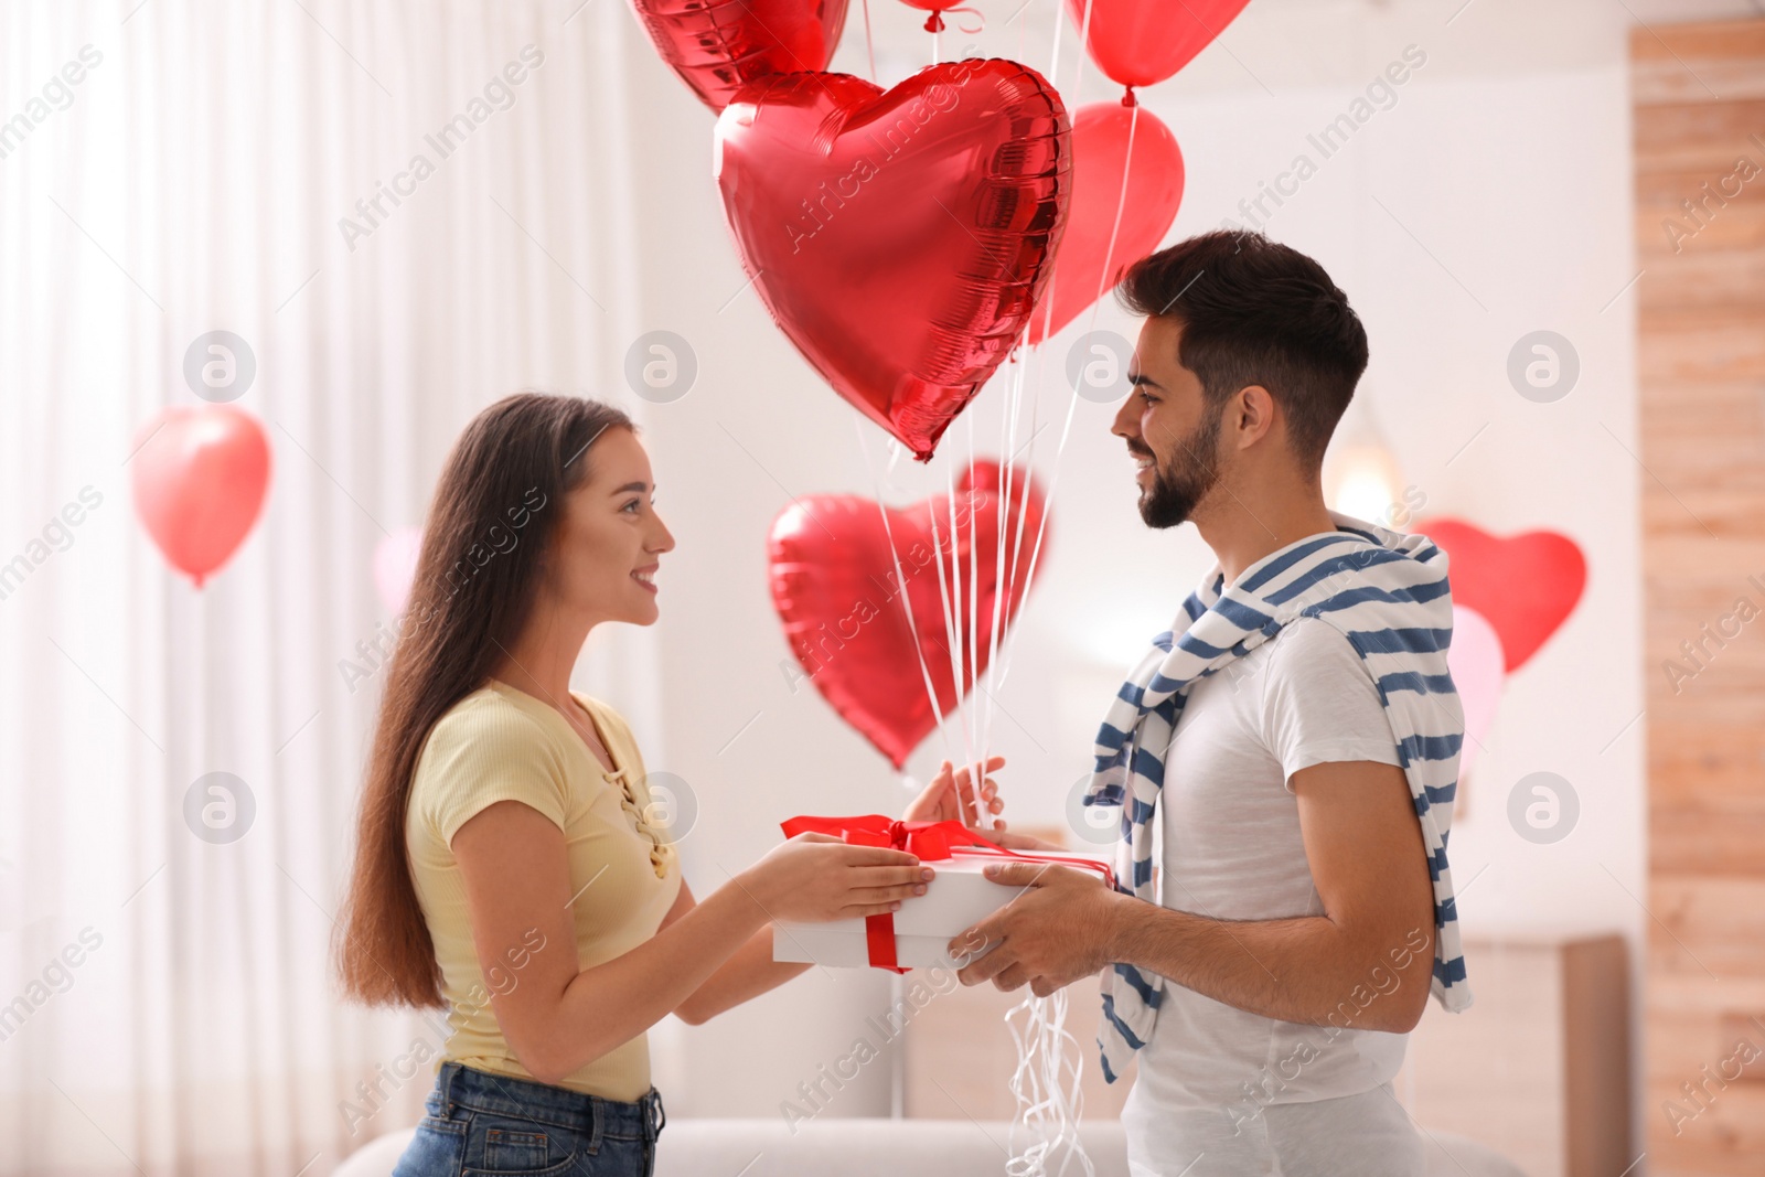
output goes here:
{"type": "MultiPolygon", "coordinates": [[[[598,699],[581,693],[575,699],[588,709],[614,771],[605,771],[547,702],[496,679],[436,722],[417,761],[404,847],[441,965],[452,1031],[436,1068],[452,1061],[531,1078],[503,1039],[491,1006],[491,993],[519,985],[521,972],[507,960],[482,967],[464,881],[450,849],[459,828],[478,812],[498,801],[521,801],[563,831],[581,969],[621,956],[655,935],[680,893],[674,847],[648,821],[657,810],[632,729],[598,699]]],[[[616,1046],[561,1085],[604,1099],[641,1098],[650,1091],[646,1036],[616,1046]]]]}

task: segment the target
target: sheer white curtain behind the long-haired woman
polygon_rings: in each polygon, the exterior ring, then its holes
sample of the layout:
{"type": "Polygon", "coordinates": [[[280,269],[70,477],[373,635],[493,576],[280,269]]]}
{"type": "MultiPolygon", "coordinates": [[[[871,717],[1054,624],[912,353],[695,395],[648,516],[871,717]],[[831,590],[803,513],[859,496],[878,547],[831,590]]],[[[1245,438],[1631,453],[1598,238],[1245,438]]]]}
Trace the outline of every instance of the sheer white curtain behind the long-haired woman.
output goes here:
{"type": "MultiPolygon", "coordinates": [[[[376,544],[422,522],[478,408],[641,408],[628,23],[614,0],[0,7],[0,1173],[325,1173],[420,1113],[438,1032],[330,979],[379,688],[339,663],[390,628],[376,544]],[[404,194],[369,221],[381,184],[404,194]],[[235,404],[274,473],[198,591],[136,522],[129,457],[203,404],[184,355],[210,330],[252,349],[235,404]],[[215,771],[254,806],[229,843],[185,822],[215,771]]],[[[650,633],[621,628],[581,685],[655,731],[650,633]]]]}

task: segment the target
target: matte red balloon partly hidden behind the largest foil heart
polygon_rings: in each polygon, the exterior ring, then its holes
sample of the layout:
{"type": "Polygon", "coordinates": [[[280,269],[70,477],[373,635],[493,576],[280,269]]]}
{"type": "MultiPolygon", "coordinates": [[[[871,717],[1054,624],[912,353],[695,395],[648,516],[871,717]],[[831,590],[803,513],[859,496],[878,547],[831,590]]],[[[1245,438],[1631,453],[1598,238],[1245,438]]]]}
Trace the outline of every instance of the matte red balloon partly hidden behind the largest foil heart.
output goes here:
{"type": "Polygon", "coordinates": [[[1183,152],[1170,127],[1144,106],[1093,102],[1082,108],[1073,116],[1073,205],[1029,342],[1059,334],[1114,286],[1124,265],[1158,249],[1181,203],[1183,152]],[[1128,157],[1130,131],[1133,159],[1128,157]]]}

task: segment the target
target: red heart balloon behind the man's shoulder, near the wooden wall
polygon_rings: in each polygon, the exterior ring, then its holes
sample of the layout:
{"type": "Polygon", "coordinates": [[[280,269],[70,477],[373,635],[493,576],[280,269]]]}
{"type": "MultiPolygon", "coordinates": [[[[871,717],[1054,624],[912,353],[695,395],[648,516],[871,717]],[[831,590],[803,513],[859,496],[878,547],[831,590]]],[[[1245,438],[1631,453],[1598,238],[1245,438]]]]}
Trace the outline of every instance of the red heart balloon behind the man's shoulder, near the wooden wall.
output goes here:
{"type": "Polygon", "coordinates": [[[1527,531],[1497,538],[1461,519],[1430,519],[1416,529],[1446,549],[1453,603],[1476,609],[1495,626],[1509,674],[1537,653],[1581,600],[1587,559],[1566,535],[1527,531]]]}

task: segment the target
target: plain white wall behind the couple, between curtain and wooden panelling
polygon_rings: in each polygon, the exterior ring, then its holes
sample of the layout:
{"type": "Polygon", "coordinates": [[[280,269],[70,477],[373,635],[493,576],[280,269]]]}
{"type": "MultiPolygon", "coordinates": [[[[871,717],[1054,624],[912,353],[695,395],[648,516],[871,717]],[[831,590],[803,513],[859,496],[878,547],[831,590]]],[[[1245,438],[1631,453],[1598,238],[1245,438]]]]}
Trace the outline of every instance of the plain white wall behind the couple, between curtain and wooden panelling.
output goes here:
{"type": "MultiPolygon", "coordinates": [[[[1426,51],[1396,106],[1324,161],[1267,228],[1318,258],[1364,318],[1373,360],[1361,402],[1405,480],[1428,496],[1424,514],[1497,535],[1550,528],[1588,558],[1580,607],[1509,681],[1461,794],[1453,854],[1461,886],[1476,879],[1461,903],[1467,930],[1617,928],[1634,946],[1647,919],[1638,902],[1643,727],[1633,722],[1641,709],[1645,475],[1633,457],[1634,288],[1626,291],[1636,274],[1629,16],[1592,2],[1479,0],[1454,16],[1458,7],[1257,0],[1221,44],[1142,101],[1188,161],[1175,240],[1237,217],[1237,201],[1308,150],[1306,134],[1405,46],[1426,51]],[[1578,386],[1555,404],[1521,399],[1506,378],[1509,348],[1536,328],[1567,335],[1581,358],[1578,386]],[[1507,791],[1536,769],[1569,778],[1581,799],[1580,826],[1555,845],[1532,845],[1507,826],[1507,791]]],[[[872,5],[884,83],[928,60],[920,19],[888,0],[872,5]]],[[[1047,69],[1052,23],[1052,2],[1036,0],[981,37],[946,34],[946,56],[951,41],[976,41],[983,55],[1047,69]]],[[[778,819],[891,810],[902,789],[817,695],[791,693],[766,589],[764,533],[787,494],[870,491],[854,413],[796,356],[754,293],[738,293],[745,275],[708,166],[711,115],[653,62],[635,26],[627,34],[646,109],[634,139],[641,330],[680,332],[701,365],[688,397],[650,413],[660,508],[680,549],[662,570],[665,731],[641,734],[651,768],[680,773],[697,792],[701,819],[683,851],[702,893],[771,845],[778,819]]],[[[1068,106],[1078,106],[1073,48],[1068,28],[1055,79],[1068,106]]],[[[858,4],[837,65],[868,72],[858,4]]],[[[1085,99],[1115,95],[1096,83],[1087,64],[1085,99]]],[[[1098,326],[1133,332],[1114,304],[1098,326]]],[[[1050,344],[1055,356],[1078,330],[1050,344]]],[[[1043,413],[1059,416],[1066,399],[1054,376],[1043,413]]],[[[980,438],[997,438],[1001,401],[995,381],[971,409],[980,438]]],[[[1123,446],[1107,434],[1112,411],[1078,404],[1045,577],[999,697],[995,745],[1011,759],[1006,796],[1020,822],[1063,819],[1123,669],[1211,563],[1191,528],[1149,533],[1140,524],[1123,446]]],[[[881,452],[881,434],[865,431],[881,452]]],[[[902,464],[897,501],[943,485],[944,462],[965,452],[958,422],[928,471],[902,464]]],[[[1047,478],[1052,448],[1038,445],[1038,454],[1047,478]]],[[[935,755],[934,738],[911,768],[923,778],[935,755]]],[[[886,995],[879,974],[810,974],[710,1027],[664,1029],[658,1082],[681,1113],[775,1115],[800,1080],[849,1048],[886,995]]],[[[833,1113],[886,1113],[884,1066],[840,1092],[833,1113]]]]}

